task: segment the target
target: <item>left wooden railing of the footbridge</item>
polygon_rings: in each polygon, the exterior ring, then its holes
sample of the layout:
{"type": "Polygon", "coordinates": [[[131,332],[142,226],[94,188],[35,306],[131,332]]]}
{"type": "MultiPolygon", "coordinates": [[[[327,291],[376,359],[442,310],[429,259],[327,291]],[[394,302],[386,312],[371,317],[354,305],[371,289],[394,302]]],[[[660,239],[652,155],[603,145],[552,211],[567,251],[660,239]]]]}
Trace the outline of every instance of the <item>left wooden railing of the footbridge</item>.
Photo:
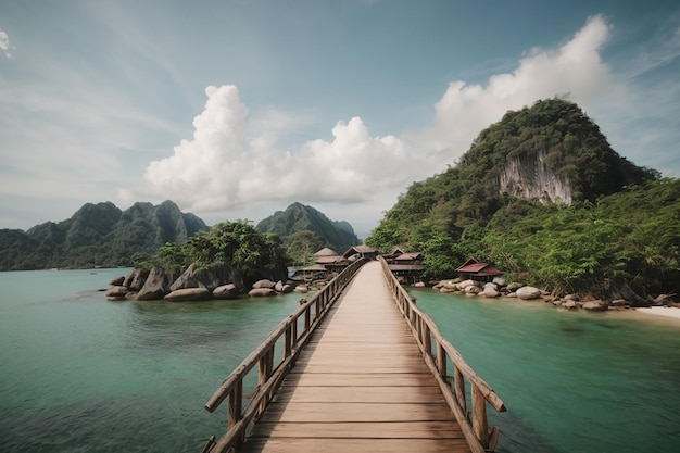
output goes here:
{"type": "Polygon", "coordinates": [[[361,259],[350,264],[308,301],[301,301],[300,306],[281,320],[248,357],[225,378],[204,407],[209,412],[214,412],[227,400],[227,430],[217,441],[214,440],[214,437],[211,438],[203,449],[203,453],[227,452],[230,449],[237,449],[242,443],[248,427],[267,407],[298,358],[300,351],[307,343],[311,334],[358,268],[367,261],[361,259]],[[274,356],[277,347],[281,351],[281,356],[275,365],[274,356]],[[245,399],[243,380],[255,365],[257,366],[257,386],[252,397],[245,399]],[[244,406],[244,403],[248,405],[244,406]]]}

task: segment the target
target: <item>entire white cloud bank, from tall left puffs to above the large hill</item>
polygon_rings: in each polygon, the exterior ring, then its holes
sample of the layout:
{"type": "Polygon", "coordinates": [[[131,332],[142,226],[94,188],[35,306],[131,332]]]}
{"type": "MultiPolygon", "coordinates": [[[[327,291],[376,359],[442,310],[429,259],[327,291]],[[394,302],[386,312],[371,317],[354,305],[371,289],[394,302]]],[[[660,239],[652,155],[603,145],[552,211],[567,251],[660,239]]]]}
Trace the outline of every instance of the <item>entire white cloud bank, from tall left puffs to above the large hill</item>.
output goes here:
{"type": "Polygon", "coordinates": [[[581,105],[619,99],[622,89],[600,58],[608,34],[604,20],[594,16],[558,49],[532,49],[515,71],[491,76],[486,86],[452,81],[435,105],[435,124],[403,138],[374,137],[353,117],[335,125],[330,141],[282,150],[278,133],[294,122],[290,116],[269,111],[253,117],[235,86],[209,87],[193,138],[182,140],[172,156],[151,162],[143,186],[123,198],[172,199],[198,213],[254,202],[383,201],[386,193],[393,203],[411,181],[454,163],[508,110],[566,92],[581,105]]]}

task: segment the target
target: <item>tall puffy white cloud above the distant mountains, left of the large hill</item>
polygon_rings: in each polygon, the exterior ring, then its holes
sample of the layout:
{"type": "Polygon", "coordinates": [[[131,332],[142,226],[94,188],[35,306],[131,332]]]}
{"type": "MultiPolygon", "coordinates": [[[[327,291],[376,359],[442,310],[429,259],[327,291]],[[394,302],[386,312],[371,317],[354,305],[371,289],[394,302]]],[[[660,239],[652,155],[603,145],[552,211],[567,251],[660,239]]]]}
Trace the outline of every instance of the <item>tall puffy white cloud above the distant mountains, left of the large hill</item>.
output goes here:
{"type": "Polygon", "coordinates": [[[360,117],[339,122],[331,141],[285,151],[277,148],[277,130],[291,123],[285,114],[251,117],[232,85],[209,87],[205,95],[193,138],[151,162],[143,187],[124,199],[172,199],[196,212],[273,200],[353,203],[413,176],[404,143],[372,137],[360,117]]]}

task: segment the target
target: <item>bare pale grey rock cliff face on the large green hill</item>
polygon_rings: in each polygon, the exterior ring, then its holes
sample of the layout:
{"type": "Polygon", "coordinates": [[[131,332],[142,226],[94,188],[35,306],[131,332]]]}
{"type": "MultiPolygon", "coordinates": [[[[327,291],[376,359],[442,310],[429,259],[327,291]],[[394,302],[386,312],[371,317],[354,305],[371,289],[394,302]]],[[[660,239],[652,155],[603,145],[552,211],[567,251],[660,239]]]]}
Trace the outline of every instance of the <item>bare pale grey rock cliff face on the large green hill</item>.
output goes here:
{"type": "Polygon", "coordinates": [[[501,193],[539,200],[542,203],[571,204],[572,189],[569,179],[550,169],[544,151],[533,155],[508,158],[501,169],[499,186],[501,193]]]}

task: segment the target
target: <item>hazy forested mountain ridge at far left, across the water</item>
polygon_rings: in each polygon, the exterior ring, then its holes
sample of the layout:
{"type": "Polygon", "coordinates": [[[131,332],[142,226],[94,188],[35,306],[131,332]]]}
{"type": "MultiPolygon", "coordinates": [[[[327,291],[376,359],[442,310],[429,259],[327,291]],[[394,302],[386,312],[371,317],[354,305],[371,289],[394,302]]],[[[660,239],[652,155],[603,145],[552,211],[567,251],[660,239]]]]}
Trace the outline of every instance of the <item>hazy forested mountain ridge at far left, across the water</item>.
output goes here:
{"type": "Polygon", "coordinates": [[[207,229],[172,201],[135,203],[121,211],[111,202],[87,203],[66,221],[0,230],[0,270],[130,266],[135,253],[153,255],[165,242],[186,242],[207,229]]]}

